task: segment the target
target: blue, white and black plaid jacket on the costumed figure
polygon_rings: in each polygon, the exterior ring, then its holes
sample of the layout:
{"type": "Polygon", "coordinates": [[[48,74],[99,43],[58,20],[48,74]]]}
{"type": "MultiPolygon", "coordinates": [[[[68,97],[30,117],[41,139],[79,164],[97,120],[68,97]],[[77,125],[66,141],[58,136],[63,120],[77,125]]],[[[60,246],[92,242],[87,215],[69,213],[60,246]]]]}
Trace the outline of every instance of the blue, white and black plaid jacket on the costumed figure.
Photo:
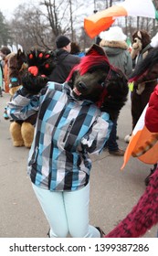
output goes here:
{"type": "Polygon", "coordinates": [[[31,181],[49,190],[76,190],[90,179],[90,154],[99,154],[111,132],[109,114],[91,101],[77,101],[67,83],[48,82],[38,95],[16,92],[7,112],[25,120],[37,112],[28,158],[31,181]]]}

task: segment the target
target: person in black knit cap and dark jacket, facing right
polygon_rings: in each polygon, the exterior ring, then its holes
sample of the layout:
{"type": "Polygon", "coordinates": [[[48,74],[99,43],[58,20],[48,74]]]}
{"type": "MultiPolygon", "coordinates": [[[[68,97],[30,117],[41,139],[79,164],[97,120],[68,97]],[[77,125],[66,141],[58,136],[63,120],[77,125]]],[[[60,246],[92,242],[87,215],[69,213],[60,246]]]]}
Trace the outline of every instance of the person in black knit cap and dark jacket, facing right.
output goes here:
{"type": "Polygon", "coordinates": [[[56,38],[56,47],[56,67],[49,75],[49,80],[63,83],[67,80],[70,70],[79,64],[80,58],[70,54],[71,43],[66,36],[56,38]]]}

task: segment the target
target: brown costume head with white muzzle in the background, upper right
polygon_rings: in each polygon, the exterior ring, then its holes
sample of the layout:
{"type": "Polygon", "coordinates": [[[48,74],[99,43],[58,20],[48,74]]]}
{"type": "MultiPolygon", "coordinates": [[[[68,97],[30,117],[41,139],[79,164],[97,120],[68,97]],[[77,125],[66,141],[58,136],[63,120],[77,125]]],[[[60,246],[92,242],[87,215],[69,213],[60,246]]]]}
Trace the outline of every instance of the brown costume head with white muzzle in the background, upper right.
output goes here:
{"type": "MultiPolygon", "coordinates": [[[[137,30],[132,35],[132,59],[151,43],[151,37],[145,30],[137,30]]],[[[145,57],[145,56],[144,56],[145,57]]]]}

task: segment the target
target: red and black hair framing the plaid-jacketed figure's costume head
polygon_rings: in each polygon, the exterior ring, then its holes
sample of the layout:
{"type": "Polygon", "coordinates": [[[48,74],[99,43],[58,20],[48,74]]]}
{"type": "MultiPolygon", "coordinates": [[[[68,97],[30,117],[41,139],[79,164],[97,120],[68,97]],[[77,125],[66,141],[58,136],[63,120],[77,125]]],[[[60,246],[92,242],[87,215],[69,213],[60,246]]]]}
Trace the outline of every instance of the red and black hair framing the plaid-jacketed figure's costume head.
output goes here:
{"type": "Polygon", "coordinates": [[[87,55],[69,73],[68,84],[72,88],[76,72],[83,76],[85,73],[92,73],[97,69],[101,69],[106,76],[104,78],[104,89],[100,93],[100,100],[96,103],[102,111],[110,113],[111,119],[115,119],[115,116],[118,116],[122,106],[127,101],[128,80],[121,69],[111,65],[103,48],[97,45],[90,48],[87,55]]]}

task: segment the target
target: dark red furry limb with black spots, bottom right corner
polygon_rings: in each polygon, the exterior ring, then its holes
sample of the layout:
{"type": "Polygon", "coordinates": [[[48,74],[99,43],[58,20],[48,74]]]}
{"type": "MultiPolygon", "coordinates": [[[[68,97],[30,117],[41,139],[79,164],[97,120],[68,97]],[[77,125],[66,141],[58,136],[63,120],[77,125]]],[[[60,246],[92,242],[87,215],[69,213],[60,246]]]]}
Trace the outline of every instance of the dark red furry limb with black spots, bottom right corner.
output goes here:
{"type": "Polygon", "coordinates": [[[106,238],[138,238],[158,223],[158,167],[137,205],[106,238]]]}

